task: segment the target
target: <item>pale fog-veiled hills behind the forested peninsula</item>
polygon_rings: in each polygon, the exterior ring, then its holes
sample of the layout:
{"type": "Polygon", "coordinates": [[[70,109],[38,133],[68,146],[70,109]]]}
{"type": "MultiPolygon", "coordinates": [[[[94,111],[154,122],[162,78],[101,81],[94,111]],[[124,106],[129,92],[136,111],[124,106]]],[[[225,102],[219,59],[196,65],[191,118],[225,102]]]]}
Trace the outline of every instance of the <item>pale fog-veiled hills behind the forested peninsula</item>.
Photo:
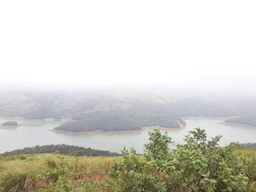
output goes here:
{"type": "Polygon", "coordinates": [[[210,96],[171,90],[3,91],[0,93],[0,115],[75,120],[94,112],[177,117],[238,115],[235,107],[222,102],[210,96]]]}

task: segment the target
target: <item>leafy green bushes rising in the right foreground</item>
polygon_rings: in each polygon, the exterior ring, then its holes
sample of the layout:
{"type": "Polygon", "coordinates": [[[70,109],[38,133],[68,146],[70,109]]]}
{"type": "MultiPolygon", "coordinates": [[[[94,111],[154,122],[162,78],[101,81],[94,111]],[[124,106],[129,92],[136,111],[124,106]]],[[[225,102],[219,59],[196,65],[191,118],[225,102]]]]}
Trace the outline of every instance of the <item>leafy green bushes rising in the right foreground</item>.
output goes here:
{"type": "Polygon", "coordinates": [[[235,144],[219,147],[220,139],[207,140],[206,131],[195,128],[184,138],[184,145],[170,150],[171,138],[154,129],[145,145],[145,160],[140,161],[133,149],[124,150],[112,177],[120,191],[251,190],[249,179],[255,180],[255,174],[248,170],[249,161],[244,163],[235,155],[235,144]]]}

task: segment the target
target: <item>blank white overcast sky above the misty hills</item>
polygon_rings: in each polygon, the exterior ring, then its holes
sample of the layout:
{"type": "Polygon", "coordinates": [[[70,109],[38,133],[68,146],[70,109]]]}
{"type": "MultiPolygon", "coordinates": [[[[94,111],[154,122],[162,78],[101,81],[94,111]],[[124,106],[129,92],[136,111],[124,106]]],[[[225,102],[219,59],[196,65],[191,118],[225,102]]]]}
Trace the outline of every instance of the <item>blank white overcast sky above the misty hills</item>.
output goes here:
{"type": "Polygon", "coordinates": [[[0,84],[255,87],[256,1],[0,1],[0,84]]]}

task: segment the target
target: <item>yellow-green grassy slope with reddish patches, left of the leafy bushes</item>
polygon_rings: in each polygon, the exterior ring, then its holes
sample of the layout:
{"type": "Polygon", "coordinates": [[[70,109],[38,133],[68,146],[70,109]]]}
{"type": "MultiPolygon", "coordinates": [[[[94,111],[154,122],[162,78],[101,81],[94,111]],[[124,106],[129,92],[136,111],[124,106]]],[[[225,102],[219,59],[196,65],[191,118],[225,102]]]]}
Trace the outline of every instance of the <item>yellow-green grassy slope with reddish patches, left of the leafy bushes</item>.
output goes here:
{"type": "Polygon", "coordinates": [[[120,157],[38,154],[0,157],[0,191],[104,191],[120,157]]]}

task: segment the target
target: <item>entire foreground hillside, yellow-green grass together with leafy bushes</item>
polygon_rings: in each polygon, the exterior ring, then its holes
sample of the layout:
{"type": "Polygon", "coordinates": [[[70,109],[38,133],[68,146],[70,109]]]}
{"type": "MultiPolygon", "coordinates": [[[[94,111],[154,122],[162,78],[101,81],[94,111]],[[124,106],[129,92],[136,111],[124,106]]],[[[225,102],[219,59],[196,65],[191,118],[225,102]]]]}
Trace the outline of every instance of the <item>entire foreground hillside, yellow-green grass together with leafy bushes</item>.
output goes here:
{"type": "Polygon", "coordinates": [[[143,156],[124,149],[121,157],[0,157],[0,191],[256,191],[256,152],[219,147],[219,139],[207,141],[197,128],[170,150],[171,138],[154,130],[143,156]]]}

